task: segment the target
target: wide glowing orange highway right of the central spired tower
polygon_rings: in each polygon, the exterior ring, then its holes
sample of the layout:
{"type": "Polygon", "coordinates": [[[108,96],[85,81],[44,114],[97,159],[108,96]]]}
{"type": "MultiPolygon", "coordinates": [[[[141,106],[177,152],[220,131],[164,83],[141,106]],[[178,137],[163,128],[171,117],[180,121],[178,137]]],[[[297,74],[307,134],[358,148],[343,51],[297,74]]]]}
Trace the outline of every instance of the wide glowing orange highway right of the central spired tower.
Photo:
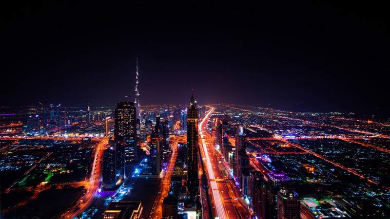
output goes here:
{"type": "Polygon", "coordinates": [[[210,114],[215,110],[215,108],[210,108],[211,110],[209,110],[199,123],[198,131],[201,142],[201,156],[206,161],[206,172],[215,205],[215,217],[219,217],[220,219],[241,219],[244,218],[239,212],[241,204],[237,200],[234,200],[237,194],[234,193],[232,183],[223,178],[218,168],[215,148],[206,143],[207,140],[211,139],[210,134],[207,132],[207,122],[210,119],[210,114]]]}

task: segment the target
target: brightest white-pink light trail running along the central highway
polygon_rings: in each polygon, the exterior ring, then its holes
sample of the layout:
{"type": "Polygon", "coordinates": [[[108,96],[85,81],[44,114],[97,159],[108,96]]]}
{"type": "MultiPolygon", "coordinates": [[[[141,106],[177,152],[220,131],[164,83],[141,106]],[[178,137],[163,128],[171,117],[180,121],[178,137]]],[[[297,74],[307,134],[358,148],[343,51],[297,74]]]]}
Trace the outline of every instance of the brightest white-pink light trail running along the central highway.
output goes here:
{"type": "Polygon", "coordinates": [[[207,150],[206,143],[204,142],[204,135],[203,135],[203,130],[202,130],[203,123],[208,119],[208,117],[214,111],[214,109],[215,108],[211,107],[211,110],[206,114],[206,116],[203,118],[203,120],[199,123],[198,129],[199,129],[199,135],[200,135],[200,138],[202,141],[203,151],[204,151],[205,158],[206,158],[207,173],[209,175],[210,186],[211,186],[211,190],[212,190],[212,194],[213,194],[213,200],[215,203],[215,209],[216,209],[216,212],[217,212],[218,217],[220,219],[227,219],[226,214],[225,214],[225,208],[224,208],[223,203],[222,203],[222,198],[219,195],[220,193],[219,193],[218,185],[216,184],[215,181],[213,181],[213,180],[215,180],[214,170],[213,170],[213,166],[211,165],[211,162],[210,162],[209,152],[207,150]]]}

